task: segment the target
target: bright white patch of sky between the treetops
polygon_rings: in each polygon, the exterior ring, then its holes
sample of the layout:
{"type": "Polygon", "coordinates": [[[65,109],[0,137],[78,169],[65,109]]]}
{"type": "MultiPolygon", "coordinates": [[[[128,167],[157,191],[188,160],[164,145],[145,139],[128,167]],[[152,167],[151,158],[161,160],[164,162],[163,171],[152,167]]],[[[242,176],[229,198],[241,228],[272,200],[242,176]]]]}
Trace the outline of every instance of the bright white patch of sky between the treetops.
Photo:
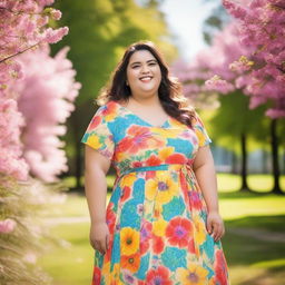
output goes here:
{"type": "Polygon", "coordinates": [[[164,0],[160,10],[170,32],[175,36],[175,45],[185,61],[203,49],[203,22],[209,16],[217,1],[205,0],[164,0]]]}

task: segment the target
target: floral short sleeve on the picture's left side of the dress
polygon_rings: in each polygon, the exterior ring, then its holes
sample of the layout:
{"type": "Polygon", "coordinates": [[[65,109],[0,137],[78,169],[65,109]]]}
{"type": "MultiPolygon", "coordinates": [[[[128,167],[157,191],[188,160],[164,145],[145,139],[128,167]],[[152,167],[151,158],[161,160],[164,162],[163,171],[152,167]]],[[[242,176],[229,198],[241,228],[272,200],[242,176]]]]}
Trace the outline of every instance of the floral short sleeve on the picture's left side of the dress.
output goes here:
{"type": "Polygon", "coordinates": [[[114,136],[104,116],[105,107],[101,106],[94,115],[81,142],[96,149],[111,160],[115,149],[114,136]]]}

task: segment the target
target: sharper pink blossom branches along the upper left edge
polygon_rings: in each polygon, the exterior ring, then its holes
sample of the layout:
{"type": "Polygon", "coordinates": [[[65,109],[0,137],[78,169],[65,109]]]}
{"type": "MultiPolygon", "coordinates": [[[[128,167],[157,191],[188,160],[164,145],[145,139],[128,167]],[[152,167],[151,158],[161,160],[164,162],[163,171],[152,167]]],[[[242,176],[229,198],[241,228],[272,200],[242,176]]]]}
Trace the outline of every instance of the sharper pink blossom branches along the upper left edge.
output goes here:
{"type": "Polygon", "coordinates": [[[18,55],[47,42],[59,41],[68,28],[53,30],[47,27],[49,19],[58,20],[59,10],[45,9],[53,0],[0,1],[0,171],[24,179],[28,166],[22,159],[20,128],[22,115],[16,102],[18,95],[8,91],[16,80],[22,78],[18,55]]]}

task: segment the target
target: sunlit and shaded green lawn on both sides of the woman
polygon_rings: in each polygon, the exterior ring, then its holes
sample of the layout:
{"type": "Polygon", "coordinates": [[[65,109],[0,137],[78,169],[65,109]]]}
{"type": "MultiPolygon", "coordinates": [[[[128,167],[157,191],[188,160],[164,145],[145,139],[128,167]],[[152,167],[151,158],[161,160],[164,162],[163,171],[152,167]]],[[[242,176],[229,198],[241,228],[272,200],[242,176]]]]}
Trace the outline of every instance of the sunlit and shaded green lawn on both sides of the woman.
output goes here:
{"type": "MultiPolygon", "coordinates": [[[[259,195],[237,193],[239,183],[236,176],[218,175],[219,207],[226,226],[222,242],[232,285],[284,284],[285,196],[265,194],[272,187],[269,176],[249,177],[249,186],[264,193],[259,195]]],[[[40,259],[53,277],[52,284],[90,284],[92,248],[85,197],[68,195],[65,204],[50,205],[46,216],[53,225],[51,233],[67,240],[40,259]]]]}

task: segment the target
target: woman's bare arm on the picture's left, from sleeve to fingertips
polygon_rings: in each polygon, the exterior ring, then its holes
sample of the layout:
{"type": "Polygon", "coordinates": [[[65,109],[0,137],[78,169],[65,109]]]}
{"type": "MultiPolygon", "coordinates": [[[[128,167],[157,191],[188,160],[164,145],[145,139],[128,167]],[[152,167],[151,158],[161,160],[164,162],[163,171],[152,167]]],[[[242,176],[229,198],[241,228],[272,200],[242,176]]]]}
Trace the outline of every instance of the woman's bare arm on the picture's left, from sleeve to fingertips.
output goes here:
{"type": "Polygon", "coordinates": [[[109,229],[106,223],[106,174],[110,160],[88,145],[85,147],[85,193],[89,208],[91,246],[105,254],[109,243],[109,229]]]}

